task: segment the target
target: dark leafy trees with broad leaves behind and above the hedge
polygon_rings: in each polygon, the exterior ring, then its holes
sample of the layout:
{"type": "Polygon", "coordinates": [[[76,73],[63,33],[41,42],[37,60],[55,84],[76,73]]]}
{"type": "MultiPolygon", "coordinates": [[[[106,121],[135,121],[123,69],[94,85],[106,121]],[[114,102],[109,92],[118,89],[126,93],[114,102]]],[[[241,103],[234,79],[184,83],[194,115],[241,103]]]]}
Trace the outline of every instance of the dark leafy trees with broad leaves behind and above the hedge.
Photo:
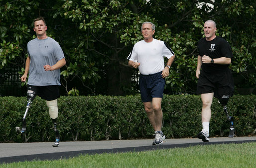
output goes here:
{"type": "Polygon", "coordinates": [[[166,41],[176,55],[165,92],[193,94],[197,41],[204,21],[212,19],[217,35],[232,47],[236,87],[254,87],[255,6],[255,0],[0,0],[0,68],[24,68],[26,44],[35,37],[32,20],[43,16],[47,34],[65,53],[66,93],[131,94],[136,92],[130,87],[134,72],[126,57],[143,38],[141,23],[151,21],[155,38],[166,41]]]}

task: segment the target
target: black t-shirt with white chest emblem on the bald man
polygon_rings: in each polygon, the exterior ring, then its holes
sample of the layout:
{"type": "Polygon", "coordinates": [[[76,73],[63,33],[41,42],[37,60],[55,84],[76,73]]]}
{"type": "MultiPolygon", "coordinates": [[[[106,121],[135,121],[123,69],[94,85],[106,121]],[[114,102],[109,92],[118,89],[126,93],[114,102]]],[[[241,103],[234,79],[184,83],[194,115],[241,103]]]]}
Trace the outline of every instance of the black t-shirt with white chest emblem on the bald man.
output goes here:
{"type": "MultiPolygon", "coordinates": [[[[227,57],[232,58],[233,54],[230,48],[229,43],[222,37],[216,36],[213,40],[207,41],[205,38],[202,38],[198,41],[197,49],[200,56],[206,55],[212,59],[227,57]]],[[[207,73],[216,73],[220,71],[225,71],[228,69],[229,64],[220,65],[220,64],[202,64],[202,70],[207,73]]]]}

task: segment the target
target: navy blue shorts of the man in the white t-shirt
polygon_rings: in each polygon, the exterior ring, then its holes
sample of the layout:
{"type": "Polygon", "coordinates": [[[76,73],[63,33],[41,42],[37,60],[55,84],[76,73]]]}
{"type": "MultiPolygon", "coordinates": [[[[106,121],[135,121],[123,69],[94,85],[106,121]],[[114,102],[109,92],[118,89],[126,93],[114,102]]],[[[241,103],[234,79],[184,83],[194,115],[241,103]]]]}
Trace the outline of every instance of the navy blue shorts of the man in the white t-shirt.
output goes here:
{"type": "Polygon", "coordinates": [[[152,98],[163,98],[166,81],[162,72],[151,75],[140,75],[139,86],[142,102],[151,102],[152,98]]]}

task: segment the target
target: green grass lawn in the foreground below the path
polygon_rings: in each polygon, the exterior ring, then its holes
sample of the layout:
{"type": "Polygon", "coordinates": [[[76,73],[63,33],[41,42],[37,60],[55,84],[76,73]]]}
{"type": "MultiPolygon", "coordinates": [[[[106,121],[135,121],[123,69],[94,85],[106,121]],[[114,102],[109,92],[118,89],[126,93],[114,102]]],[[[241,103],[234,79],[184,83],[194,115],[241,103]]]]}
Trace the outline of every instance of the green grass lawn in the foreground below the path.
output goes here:
{"type": "Polygon", "coordinates": [[[0,168],[256,168],[256,142],[1,164],[0,168]]]}

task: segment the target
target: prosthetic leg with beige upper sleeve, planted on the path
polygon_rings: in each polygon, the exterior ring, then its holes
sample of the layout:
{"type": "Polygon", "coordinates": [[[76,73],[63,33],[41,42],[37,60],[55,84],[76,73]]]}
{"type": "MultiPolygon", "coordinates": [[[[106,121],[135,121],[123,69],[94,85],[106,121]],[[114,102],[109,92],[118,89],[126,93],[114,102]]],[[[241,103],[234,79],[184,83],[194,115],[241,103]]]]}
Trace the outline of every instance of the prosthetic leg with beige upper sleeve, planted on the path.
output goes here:
{"type": "Polygon", "coordinates": [[[49,108],[49,115],[50,115],[50,118],[52,119],[53,130],[55,132],[55,143],[53,147],[58,147],[60,144],[60,133],[57,130],[57,117],[58,117],[57,99],[46,101],[46,105],[49,108]]]}

